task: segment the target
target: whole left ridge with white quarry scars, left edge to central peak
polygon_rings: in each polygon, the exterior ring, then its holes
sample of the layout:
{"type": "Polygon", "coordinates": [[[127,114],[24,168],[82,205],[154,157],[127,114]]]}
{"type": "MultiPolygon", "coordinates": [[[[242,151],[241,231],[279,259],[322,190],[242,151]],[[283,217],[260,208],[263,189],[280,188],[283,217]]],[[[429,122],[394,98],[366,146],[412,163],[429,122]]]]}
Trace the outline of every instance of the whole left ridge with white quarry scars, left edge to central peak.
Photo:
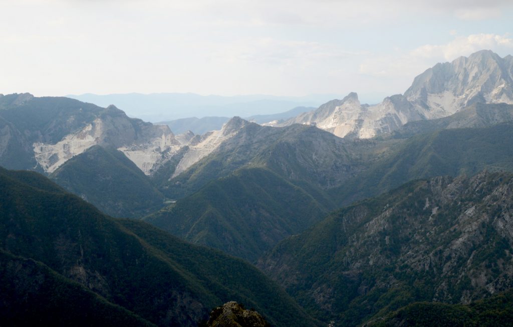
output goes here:
{"type": "Polygon", "coordinates": [[[167,125],[129,118],[114,105],[102,108],[69,98],[10,94],[0,97],[0,159],[9,168],[52,173],[100,145],[122,151],[146,175],[152,175],[188,147],[176,167],[177,175],[246,123],[237,117],[203,136],[191,132],[175,136],[167,125]]]}

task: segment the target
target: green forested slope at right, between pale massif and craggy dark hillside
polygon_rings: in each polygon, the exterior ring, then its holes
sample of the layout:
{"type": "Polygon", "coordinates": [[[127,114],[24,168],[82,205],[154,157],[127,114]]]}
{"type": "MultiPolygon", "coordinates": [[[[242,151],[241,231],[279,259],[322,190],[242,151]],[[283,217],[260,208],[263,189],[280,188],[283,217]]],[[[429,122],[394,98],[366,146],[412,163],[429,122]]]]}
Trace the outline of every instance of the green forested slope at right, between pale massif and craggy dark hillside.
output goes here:
{"type": "Polygon", "coordinates": [[[513,171],[513,122],[482,128],[440,129],[391,143],[386,155],[329,190],[349,204],[408,181],[434,176],[513,171]]]}

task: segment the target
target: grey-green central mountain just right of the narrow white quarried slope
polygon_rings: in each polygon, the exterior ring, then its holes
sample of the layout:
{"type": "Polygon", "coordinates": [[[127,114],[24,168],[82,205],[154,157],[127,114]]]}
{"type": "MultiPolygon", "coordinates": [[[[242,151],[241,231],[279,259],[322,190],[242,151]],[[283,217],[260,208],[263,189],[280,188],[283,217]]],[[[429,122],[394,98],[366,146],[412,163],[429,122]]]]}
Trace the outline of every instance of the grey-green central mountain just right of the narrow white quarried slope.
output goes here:
{"type": "Polygon", "coordinates": [[[353,175],[352,170],[359,169],[358,157],[365,155],[354,154],[354,141],[340,139],[314,126],[276,128],[236,117],[224,128],[231,125],[236,126],[236,134],[170,179],[162,186],[162,192],[170,198],[183,197],[236,169],[255,166],[268,167],[290,180],[328,188],[353,175]]]}

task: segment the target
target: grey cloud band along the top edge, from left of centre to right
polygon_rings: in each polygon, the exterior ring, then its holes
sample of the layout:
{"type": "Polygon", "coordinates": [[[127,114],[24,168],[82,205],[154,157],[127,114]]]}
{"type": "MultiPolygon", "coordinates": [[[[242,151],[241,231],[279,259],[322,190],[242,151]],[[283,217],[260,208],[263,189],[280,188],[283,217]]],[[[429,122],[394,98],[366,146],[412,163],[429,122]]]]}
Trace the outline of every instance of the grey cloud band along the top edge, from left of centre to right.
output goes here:
{"type": "Polygon", "coordinates": [[[393,24],[398,18],[447,16],[461,20],[496,18],[510,0],[198,0],[204,12],[227,20],[250,17],[269,25],[347,26],[393,24]]]}

